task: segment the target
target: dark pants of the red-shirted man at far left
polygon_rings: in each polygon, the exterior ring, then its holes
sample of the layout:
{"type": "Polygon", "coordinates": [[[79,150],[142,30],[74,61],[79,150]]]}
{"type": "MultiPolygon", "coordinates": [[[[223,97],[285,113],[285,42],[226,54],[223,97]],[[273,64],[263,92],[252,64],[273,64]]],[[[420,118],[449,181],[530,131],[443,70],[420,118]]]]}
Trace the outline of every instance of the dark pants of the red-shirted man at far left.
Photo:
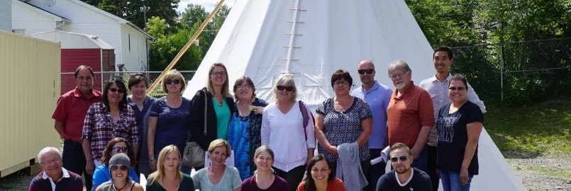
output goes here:
{"type": "Polygon", "coordinates": [[[63,141],[63,168],[85,177],[85,189],[92,190],[93,177],[85,171],[87,161],[83,152],[82,144],[72,140],[63,141]]]}

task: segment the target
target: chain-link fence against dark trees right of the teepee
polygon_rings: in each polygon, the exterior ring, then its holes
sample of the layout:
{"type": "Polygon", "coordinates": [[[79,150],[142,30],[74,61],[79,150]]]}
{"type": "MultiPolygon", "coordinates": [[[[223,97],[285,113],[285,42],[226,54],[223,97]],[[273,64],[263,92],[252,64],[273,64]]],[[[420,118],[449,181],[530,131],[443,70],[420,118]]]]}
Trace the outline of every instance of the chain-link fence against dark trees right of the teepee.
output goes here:
{"type": "Polygon", "coordinates": [[[453,47],[453,73],[482,100],[526,103],[571,93],[571,38],[453,47]]]}

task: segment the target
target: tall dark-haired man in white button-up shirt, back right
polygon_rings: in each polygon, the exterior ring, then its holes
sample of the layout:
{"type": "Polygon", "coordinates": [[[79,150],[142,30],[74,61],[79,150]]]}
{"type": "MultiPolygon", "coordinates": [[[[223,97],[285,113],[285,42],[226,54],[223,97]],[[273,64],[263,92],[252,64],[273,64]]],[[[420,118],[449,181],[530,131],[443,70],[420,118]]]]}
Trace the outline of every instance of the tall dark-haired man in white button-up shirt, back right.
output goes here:
{"type": "MultiPolygon", "coordinates": [[[[436,69],[436,74],[429,79],[421,81],[420,87],[428,91],[431,95],[433,108],[434,108],[434,120],[435,125],[432,127],[430,135],[428,137],[428,163],[426,165],[426,173],[430,175],[432,179],[433,190],[438,190],[438,174],[436,173],[436,146],[438,144],[438,130],[436,129],[436,120],[438,120],[438,111],[443,105],[448,105],[452,102],[450,96],[448,96],[448,84],[450,83],[450,66],[453,66],[454,54],[449,47],[439,46],[434,50],[432,57],[432,64],[434,69],[436,69]]],[[[467,84],[467,94],[466,97],[470,102],[478,105],[482,113],[486,112],[486,106],[482,100],[479,100],[478,95],[474,91],[474,88],[467,84]]]]}

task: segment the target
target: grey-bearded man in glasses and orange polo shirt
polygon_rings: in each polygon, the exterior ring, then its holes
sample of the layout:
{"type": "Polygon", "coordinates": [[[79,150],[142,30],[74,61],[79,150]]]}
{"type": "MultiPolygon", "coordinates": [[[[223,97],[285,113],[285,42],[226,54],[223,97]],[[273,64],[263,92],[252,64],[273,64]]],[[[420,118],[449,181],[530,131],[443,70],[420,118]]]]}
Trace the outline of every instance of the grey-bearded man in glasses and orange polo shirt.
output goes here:
{"type": "Polygon", "coordinates": [[[412,167],[426,171],[428,151],[426,142],[434,125],[431,96],[414,85],[409,64],[401,60],[391,62],[389,77],[397,88],[387,107],[389,145],[398,142],[411,148],[412,167]]]}

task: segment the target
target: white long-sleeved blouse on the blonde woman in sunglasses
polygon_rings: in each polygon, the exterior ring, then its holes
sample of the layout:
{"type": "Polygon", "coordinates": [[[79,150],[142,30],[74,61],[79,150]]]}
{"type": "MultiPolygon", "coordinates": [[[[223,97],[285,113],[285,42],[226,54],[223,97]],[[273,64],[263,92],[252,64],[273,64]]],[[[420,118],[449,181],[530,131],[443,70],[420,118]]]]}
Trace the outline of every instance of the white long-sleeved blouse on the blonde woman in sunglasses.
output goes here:
{"type": "Polygon", "coordinates": [[[315,128],[311,120],[311,112],[306,107],[308,125],[303,127],[304,118],[296,102],[292,109],[283,114],[277,105],[270,103],[262,115],[262,145],[274,151],[274,167],[288,172],[293,168],[306,164],[307,149],[316,146],[315,128]],[[307,140],[306,140],[307,136],[307,140]]]}

